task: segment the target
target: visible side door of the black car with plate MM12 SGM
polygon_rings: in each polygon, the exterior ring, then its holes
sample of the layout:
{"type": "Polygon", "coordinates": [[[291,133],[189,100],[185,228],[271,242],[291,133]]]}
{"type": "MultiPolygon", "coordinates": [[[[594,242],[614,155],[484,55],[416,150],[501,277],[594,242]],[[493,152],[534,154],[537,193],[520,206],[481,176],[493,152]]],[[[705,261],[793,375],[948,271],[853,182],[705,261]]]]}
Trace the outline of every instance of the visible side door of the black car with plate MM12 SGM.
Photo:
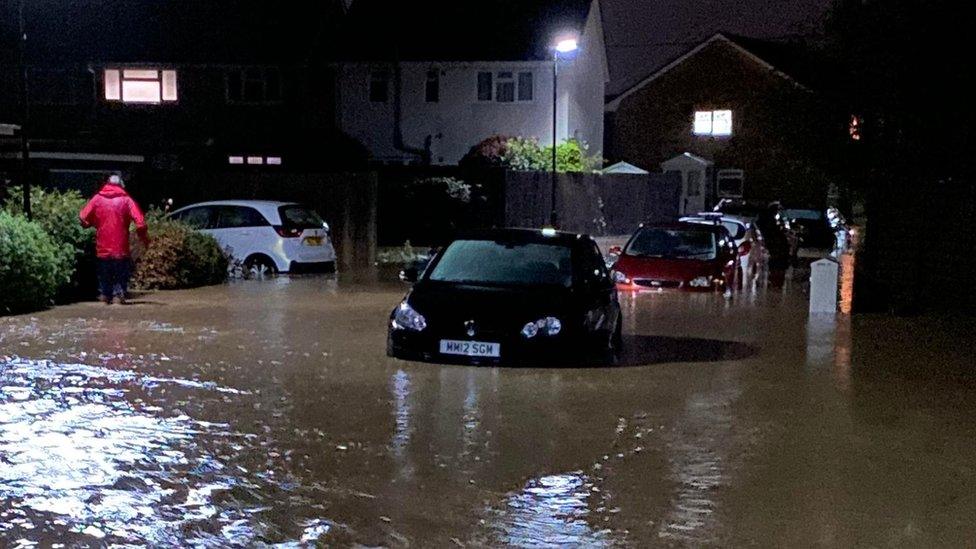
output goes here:
{"type": "Polygon", "coordinates": [[[600,338],[608,337],[619,321],[617,290],[595,242],[584,244],[580,264],[580,282],[586,331],[600,338]]]}

